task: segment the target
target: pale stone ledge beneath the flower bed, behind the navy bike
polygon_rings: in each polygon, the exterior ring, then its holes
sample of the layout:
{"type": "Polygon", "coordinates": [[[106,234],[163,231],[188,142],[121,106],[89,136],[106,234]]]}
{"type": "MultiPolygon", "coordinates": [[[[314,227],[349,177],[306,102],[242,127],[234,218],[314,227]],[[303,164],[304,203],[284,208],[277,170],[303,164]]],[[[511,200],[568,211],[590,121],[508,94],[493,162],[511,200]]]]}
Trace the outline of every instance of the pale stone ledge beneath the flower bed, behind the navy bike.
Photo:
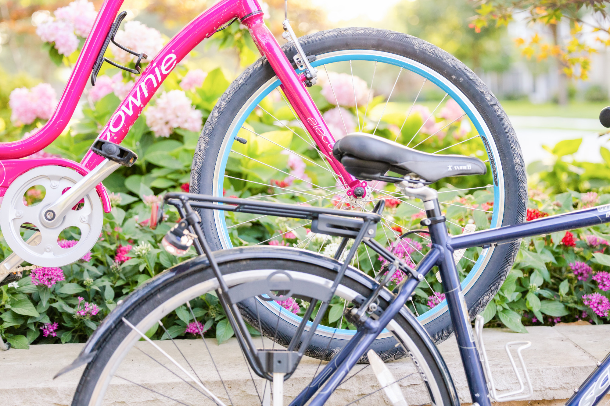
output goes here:
{"type": "MultiPolygon", "coordinates": [[[[610,325],[605,326],[555,326],[555,327],[528,327],[529,333],[519,334],[510,332],[508,329],[485,329],[484,340],[489,355],[490,365],[492,366],[493,376],[497,382],[498,390],[509,390],[516,388],[517,379],[509,366],[508,358],[504,352],[504,343],[516,340],[529,340],[532,346],[523,352],[529,375],[534,385],[534,395],[529,401],[509,402],[510,406],[557,406],[564,404],[576,386],[590,374],[595,368],[598,360],[605,357],[610,349],[610,325]]],[[[181,350],[192,359],[193,366],[198,369],[198,373],[206,380],[214,380],[215,371],[210,371],[209,362],[204,360],[201,348],[196,346],[198,340],[178,340],[181,350]],[[203,369],[199,372],[198,365],[203,369]],[[206,368],[207,366],[207,368],[206,368]],[[212,373],[214,372],[214,373],[212,373]]],[[[211,341],[211,340],[210,340],[211,341]]],[[[179,355],[171,342],[163,341],[160,343],[163,349],[172,356],[176,352],[176,359],[179,355]],[[173,352],[172,352],[173,351],[173,352]]],[[[0,351],[0,370],[2,380],[0,380],[0,399],[2,405],[26,406],[26,405],[70,405],[76,385],[82,374],[84,366],[75,371],[65,374],[59,379],[52,380],[54,374],[63,366],[68,365],[76,358],[81,351],[83,344],[49,344],[31,346],[29,350],[10,349],[0,351]]],[[[148,346],[147,343],[138,345],[148,346]]],[[[462,402],[470,402],[464,370],[459,359],[458,348],[454,339],[445,341],[439,345],[443,358],[453,376],[454,384],[458,390],[462,402]]],[[[214,356],[230,358],[235,362],[242,362],[243,358],[237,347],[235,340],[216,346],[210,346],[214,356]]],[[[135,352],[135,351],[134,351],[135,352]]],[[[152,352],[151,352],[152,353],[152,352]]],[[[152,385],[170,384],[167,377],[160,378],[156,369],[162,368],[152,363],[149,358],[141,353],[130,353],[131,361],[126,366],[121,366],[128,376],[137,376],[142,371],[151,372],[149,378],[152,385]]],[[[229,363],[229,366],[231,363],[229,363]]],[[[317,367],[318,361],[307,358],[301,363],[300,368],[295,372],[295,378],[301,376],[311,376],[317,367]]],[[[393,361],[388,363],[395,377],[404,376],[411,369],[412,363],[406,360],[393,361]],[[401,375],[402,374],[402,375],[401,375]]],[[[177,379],[174,377],[174,379],[177,379]]],[[[238,385],[249,376],[233,374],[229,385],[238,385]]],[[[171,380],[171,379],[170,379],[171,380]]],[[[287,381],[285,391],[287,395],[293,395],[293,390],[287,381]]],[[[295,381],[296,382],[296,381],[295,381]]],[[[365,392],[368,388],[376,385],[376,379],[369,368],[365,369],[353,380],[351,388],[365,392]],[[367,372],[368,371],[368,372],[367,372]]],[[[410,404],[418,404],[422,389],[417,382],[401,382],[403,386],[412,386],[412,399],[410,404]]],[[[120,394],[121,386],[117,383],[116,387],[111,385],[111,393],[120,394]]],[[[342,386],[342,391],[347,388],[342,386]]],[[[124,394],[124,393],[123,393],[124,394]]],[[[296,394],[296,393],[295,393],[296,394]]],[[[347,397],[347,393],[344,393],[347,397]]],[[[254,404],[254,391],[240,391],[240,401],[233,399],[235,404],[254,404]]],[[[341,398],[343,396],[339,396],[341,398]]],[[[422,397],[423,399],[423,397],[422,397]]],[[[152,399],[144,397],[132,397],[128,404],[154,403],[152,399]]],[[[341,399],[339,399],[339,402],[341,399]]],[[[422,401],[425,402],[425,401],[422,401]]],[[[332,403],[332,402],[331,402],[332,403]]],[[[117,397],[116,404],[124,404],[117,397]]],[[[163,403],[160,403],[163,404],[163,403]]]]}

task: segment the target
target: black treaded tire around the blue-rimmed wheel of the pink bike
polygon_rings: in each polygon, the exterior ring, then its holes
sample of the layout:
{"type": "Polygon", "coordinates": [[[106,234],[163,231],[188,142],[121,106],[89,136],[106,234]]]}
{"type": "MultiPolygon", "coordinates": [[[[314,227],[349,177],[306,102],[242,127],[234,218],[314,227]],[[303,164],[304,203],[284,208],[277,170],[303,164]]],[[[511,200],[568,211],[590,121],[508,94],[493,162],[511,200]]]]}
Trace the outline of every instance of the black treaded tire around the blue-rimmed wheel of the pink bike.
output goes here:
{"type": "MultiPolygon", "coordinates": [[[[525,221],[527,183],[519,142],[500,102],[467,66],[437,46],[390,30],[334,29],[307,35],[300,38],[300,43],[308,55],[345,49],[381,50],[403,55],[428,66],[458,87],[483,116],[500,155],[504,174],[504,212],[501,225],[508,226],[525,221]]],[[[282,48],[292,60],[296,53],[295,48],[290,43],[282,48]]],[[[267,60],[260,59],[246,69],[220,98],[207,119],[195,151],[190,182],[192,193],[214,194],[214,169],[229,126],[251,94],[273,76],[273,69],[267,60]]],[[[223,248],[212,210],[201,210],[200,215],[203,219],[201,227],[210,246],[213,249],[223,248]]],[[[468,312],[473,319],[497,293],[511,269],[519,243],[503,244],[492,249],[493,254],[480,271],[478,279],[464,289],[468,312]]],[[[434,315],[434,318],[426,319],[423,324],[436,343],[447,340],[453,333],[448,310],[434,315]]]]}

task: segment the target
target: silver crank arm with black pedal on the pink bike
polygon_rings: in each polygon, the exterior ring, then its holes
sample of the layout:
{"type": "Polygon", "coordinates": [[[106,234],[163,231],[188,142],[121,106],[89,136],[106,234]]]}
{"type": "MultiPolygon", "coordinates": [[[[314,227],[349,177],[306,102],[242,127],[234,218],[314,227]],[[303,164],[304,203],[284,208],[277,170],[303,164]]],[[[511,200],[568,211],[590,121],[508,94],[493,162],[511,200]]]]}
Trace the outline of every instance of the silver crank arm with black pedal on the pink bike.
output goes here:
{"type": "Polygon", "coordinates": [[[120,166],[132,166],[138,158],[134,152],[115,143],[105,140],[96,140],[91,150],[106,158],[98,166],[93,168],[84,178],[76,182],[62,197],[57,199],[51,206],[40,213],[40,221],[43,226],[55,228],[62,223],[63,217],[77,202],[93,190],[102,180],[120,166]]]}

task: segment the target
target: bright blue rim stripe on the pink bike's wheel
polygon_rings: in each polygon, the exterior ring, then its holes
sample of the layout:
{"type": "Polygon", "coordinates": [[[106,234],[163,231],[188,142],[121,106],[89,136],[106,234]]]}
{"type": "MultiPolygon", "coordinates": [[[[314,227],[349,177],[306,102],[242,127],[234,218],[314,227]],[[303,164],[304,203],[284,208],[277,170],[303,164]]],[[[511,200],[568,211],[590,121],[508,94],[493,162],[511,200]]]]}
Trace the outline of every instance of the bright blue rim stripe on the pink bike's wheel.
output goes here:
{"type": "MultiPolygon", "coordinates": [[[[404,57],[404,58],[408,59],[406,57],[404,57]]],[[[453,98],[453,100],[459,104],[459,106],[462,108],[462,110],[464,110],[464,112],[467,113],[468,118],[470,118],[470,121],[474,124],[476,130],[479,132],[479,137],[485,138],[488,143],[493,141],[493,140],[489,140],[489,138],[487,138],[487,135],[485,134],[485,131],[483,130],[483,126],[481,125],[481,123],[479,123],[478,119],[475,118],[475,113],[472,111],[472,109],[470,109],[470,107],[468,107],[468,105],[461,99],[461,97],[459,97],[458,94],[453,91],[453,89],[451,89],[450,87],[445,85],[442,82],[442,80],[440,80],[438,77],[431,76],[428,72],[421,69],[419,66],[411,65],[409,63],[395,60],[395,59],[392,59],[390,57],[386,57],[383,55],[369,55],[369,54],[356,54],[356,53],[350,54],[350,55],[335,55],[335,56],[328,57],[328,58],[320,57],[320,55],[318,55],[318,59],[315,60],[315,62],[312,62],[311,65],[315,67],[315,66],[320,66],[320,65],[326,64],[326,63],[346,62],[346,61],[350,61],[350,60],[351,61],[368,60],[371,62],[384,62],[389,65],[395,65],[400,68],[407,69],[408,71],[417,73],[420,76],[425,77],[426,79],[428,79],[429,81],[431,81],[432,83],[437,85],[439,88],[444,90],[445,93],[448,93],[451,96],[451,98],[453,98]]],[[[260,93],[256,99],[254,99],[254,101],[251,103],[251,105],[249,105],[248,108],[245,110],[242,117],[240,117],[237,126],[235,126],[235,129],[234,129],[233,133],[231,134],[232,140],[235,139],[235,137],[237,136],[237,133],[239,132],[239,129],[242,127],[243,123],[245,123],[246,118],[248,118],[250,113],[253,112],[256,105],[259,104],[259,102],[262,101],[262,99],[264,99],[269,93],[271,93],[271,91],[273,91],[280,84],[281,84],[281,82],[279,81],[279,79],[276,80],[271,85],[269,85],[267,89],[262,91],[262,93],[260,93]]],[[[224,151],[224,154],[223,154],[223,158],[222,158],[222,162],[221,162],[221,171],[220,171],[221,179],[218,182],[218,190],[217,190],[218,196],[222,196],[222,193],[223,193],[224,171],[226,169],[226,163],[229,158],[230,152],[231,152],[231,148],[226,148],[224,151]]],[[[491,151],[491,152],[492,152],[492,154],[494,154],[495,151],[491,151]]],[[[495,167],[496,167],[497,174],[503,173],[500,157],[497,157],[494,155],[493,159],[495,161],[495,167]]],[[[493,167],[492,167],[492,170],[493,170],[493,167]]],[[[500,188],[498,187],[498,185],[494,185],[493,186],[494,207],[497,207],[496,203],[499,201],[499,199],[500,199],[500,188]]],[[[499,210],[493,211],[489,228],[495,228],[498,226],[497,225],[498,212],[499,212],[499,210]]],[[[227,243],[229,244],[228,248],[232,248],[231,238],[229,237],[229,234],[228,234],[228,230],[226,227],[226,221],[224,219],[223,212],[219,211],[218,215],[219,215],[220,223],[221,223],[220,226],[222,227],[222,232],[224,233],[224,238],[227,241],[227,243]]],[[[478,258],[478,260],[476,260],[475,265],[473,265],[472,269],[470,269],[470,272],[468,272],[468,275],[462,281],[462,283],[461,283],[462,288],[465,288],[468,285],[468,283],[470,283],[470,281],[475,277],[476,273],[479,271],[479,268],[481,268],[481,263],[483,263],[483,260],[484,260],[484,255],[479,255],[479,258],[478,258]]],[[[282,309],[282,307],[279,304],[277,304],[276,302],[269,302],[269,303],[271,305],[273,305],[273,307],[276,307],[278,309],[278,311],[281,311],[279,309],[282,309]]],[[[418,316],[417,319],[418,319],[418,321],[424,321],[425,319],[427,319],[431,316],[434,316],[437,313],[443,313],[445,311],[447,311],[447,301],[442,301],[442,302],[440,302],[440,304],[438,304],[435,307],[428,310],[428,312],[423,313],[422,315],[418,316]]],[[[296,316],[295,314],[290,313],[290,312],[284,312],[284,314],[289,315],[290,318],[293,318],[294,321],[296,321],[296,322],[300,322],[302,319],[300,316],[296,316]]],[[[311,322],[307,322],[307,327],[311,326],[311,324],[312,324],[311,322]]],[[[337,329],[336,327],[328,327],[328,326],[318,326],[318,329],[322,330],[324,332],[339,333],[339,334],[345,334],[345,335],[353,335],[356,333],[356,330],[337,329]]],[[[383,332],[387,332],[387,330],[384,330],[383,332]]]]}

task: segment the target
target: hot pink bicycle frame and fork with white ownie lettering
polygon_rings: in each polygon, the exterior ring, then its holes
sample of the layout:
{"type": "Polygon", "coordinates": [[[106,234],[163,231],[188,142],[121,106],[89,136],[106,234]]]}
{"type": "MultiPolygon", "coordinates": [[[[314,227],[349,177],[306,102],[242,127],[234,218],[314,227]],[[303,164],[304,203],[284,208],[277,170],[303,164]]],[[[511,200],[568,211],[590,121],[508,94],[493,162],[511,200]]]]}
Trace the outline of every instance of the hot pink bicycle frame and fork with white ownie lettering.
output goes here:
{"type": "MultiPolygon", "coordinates": [[[[85,45],[76,62],[68,84],[63,91],[62,97],[57,105],[51,119],[37,133],[24,140],[12,143],[0,143],[0,160],[7,158],[22,158],[34,152],[46,148],[52,141],[65,129],[68,121],[76,109],[76,105],[81,97],[82,91],[87,84],[87,80],[93,69],[93,63],[101,51],[102,44],[110,30],[110,26],[117,15],[123,0],[106,0],[102,4],[96,18],[93,29],[85,41],[85,45]]],[[[142,110],[148,104],[154,93],[162,84],[163,80],[171,73],[173,68],[180,62],[188,52],[192,51],[205,38],[213,35],[223,24],[228,23],[233,18],[239,18],[242,24],[248,27],[250,34],[256,43],[260,54],[267,57],[274,72],[281,81],[281,87],[287,96],[290,104],[295,109],[296,114],[303,122],[309,134],[314,138],[315,143],[328,158],[329,164],[334,171],[342,177],[347,187],[353,188],[359,181],[348,174],[343,166],[332,156],[332,146],[334,138],[326,126],[320,111],[315,106],[314,101],[309,96],[303,78],[295,72],[291,63],[284,55],[278,41],[273,37],[270,30],[263,22],[263,13],[257,0],[221,0],[213,5],[190,23],[187,24],[170,42],[151,60],[146,69],[142,72],[134,87],[132,87],[127,97],[118,106],[109,122],[102,129],[98,138],[120,144],[135,123],[135,120],[142,114],[142,110]]],[[[88,151],[81,165],[63,159],[57,159],[56,165],[70,166],[78,168],[80,171],[90,171],[99,165],[104,158],[91,151],[88,151]],[[62,163],[60,163],[62,162],[62,163]]],[[[38,160],[30,159],[29,162],[37,162],[38,165],[48,165],[38,160]]],[[[6,162],[6,161],[4,161],[6,162]]],[[[19,162],[24,162],[20,160],[19,162]]],[[[8,187],[10,182],[18,174],[25,170],[19,163],[12,165],[11,173],[5,168],[5,180],[0,184],[0,196],[4,194],[5,185],[8,187]],[[18,173],[18,174],[17,174],[18,173]],[[9,176],[7,176],[7,174],[9,176]],[[7,183],[7,180],[10,182],[7,183]],[[2,190],[4,188],[4,190],[2,190]]],[[[30,165],[26,165],[31,168],[30,165]]],[[[27,169],[26,169],[27,170],[27,169]]],[[[102,185],[98,185],[98,193],[104,203],[104,210],[109,212],[110,204],[106,190],[102,185]]]]}

